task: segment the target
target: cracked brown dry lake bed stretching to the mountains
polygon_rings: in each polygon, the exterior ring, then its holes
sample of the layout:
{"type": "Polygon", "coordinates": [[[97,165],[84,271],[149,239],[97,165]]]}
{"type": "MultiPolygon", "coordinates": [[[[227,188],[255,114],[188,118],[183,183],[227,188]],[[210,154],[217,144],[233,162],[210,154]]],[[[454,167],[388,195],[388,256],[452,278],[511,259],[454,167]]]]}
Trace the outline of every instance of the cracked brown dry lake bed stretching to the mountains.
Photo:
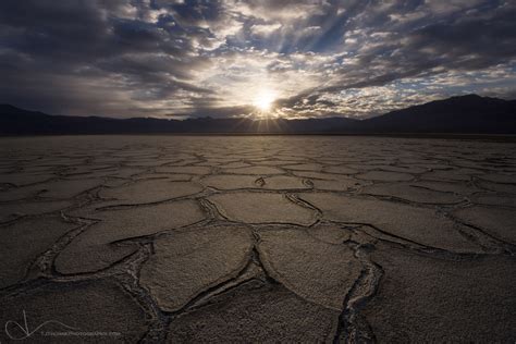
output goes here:
{"type": "Polygon", "coordinates": [[[0,139],[0,342],[516,342],[516,144],[0,139]]]}

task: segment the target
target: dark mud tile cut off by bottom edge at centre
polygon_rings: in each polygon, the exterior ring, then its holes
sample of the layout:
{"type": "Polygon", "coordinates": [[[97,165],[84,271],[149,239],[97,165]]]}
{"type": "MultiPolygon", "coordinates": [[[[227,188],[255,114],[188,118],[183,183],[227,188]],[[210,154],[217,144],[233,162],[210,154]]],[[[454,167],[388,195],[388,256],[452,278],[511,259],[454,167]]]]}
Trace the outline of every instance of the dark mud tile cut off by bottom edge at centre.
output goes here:
{"type": "Polygon", "coordinates": [[[249,283],[174,319],[167,339],[168,343],[331,342],[339,315],[281,285],[249,283]]]}

